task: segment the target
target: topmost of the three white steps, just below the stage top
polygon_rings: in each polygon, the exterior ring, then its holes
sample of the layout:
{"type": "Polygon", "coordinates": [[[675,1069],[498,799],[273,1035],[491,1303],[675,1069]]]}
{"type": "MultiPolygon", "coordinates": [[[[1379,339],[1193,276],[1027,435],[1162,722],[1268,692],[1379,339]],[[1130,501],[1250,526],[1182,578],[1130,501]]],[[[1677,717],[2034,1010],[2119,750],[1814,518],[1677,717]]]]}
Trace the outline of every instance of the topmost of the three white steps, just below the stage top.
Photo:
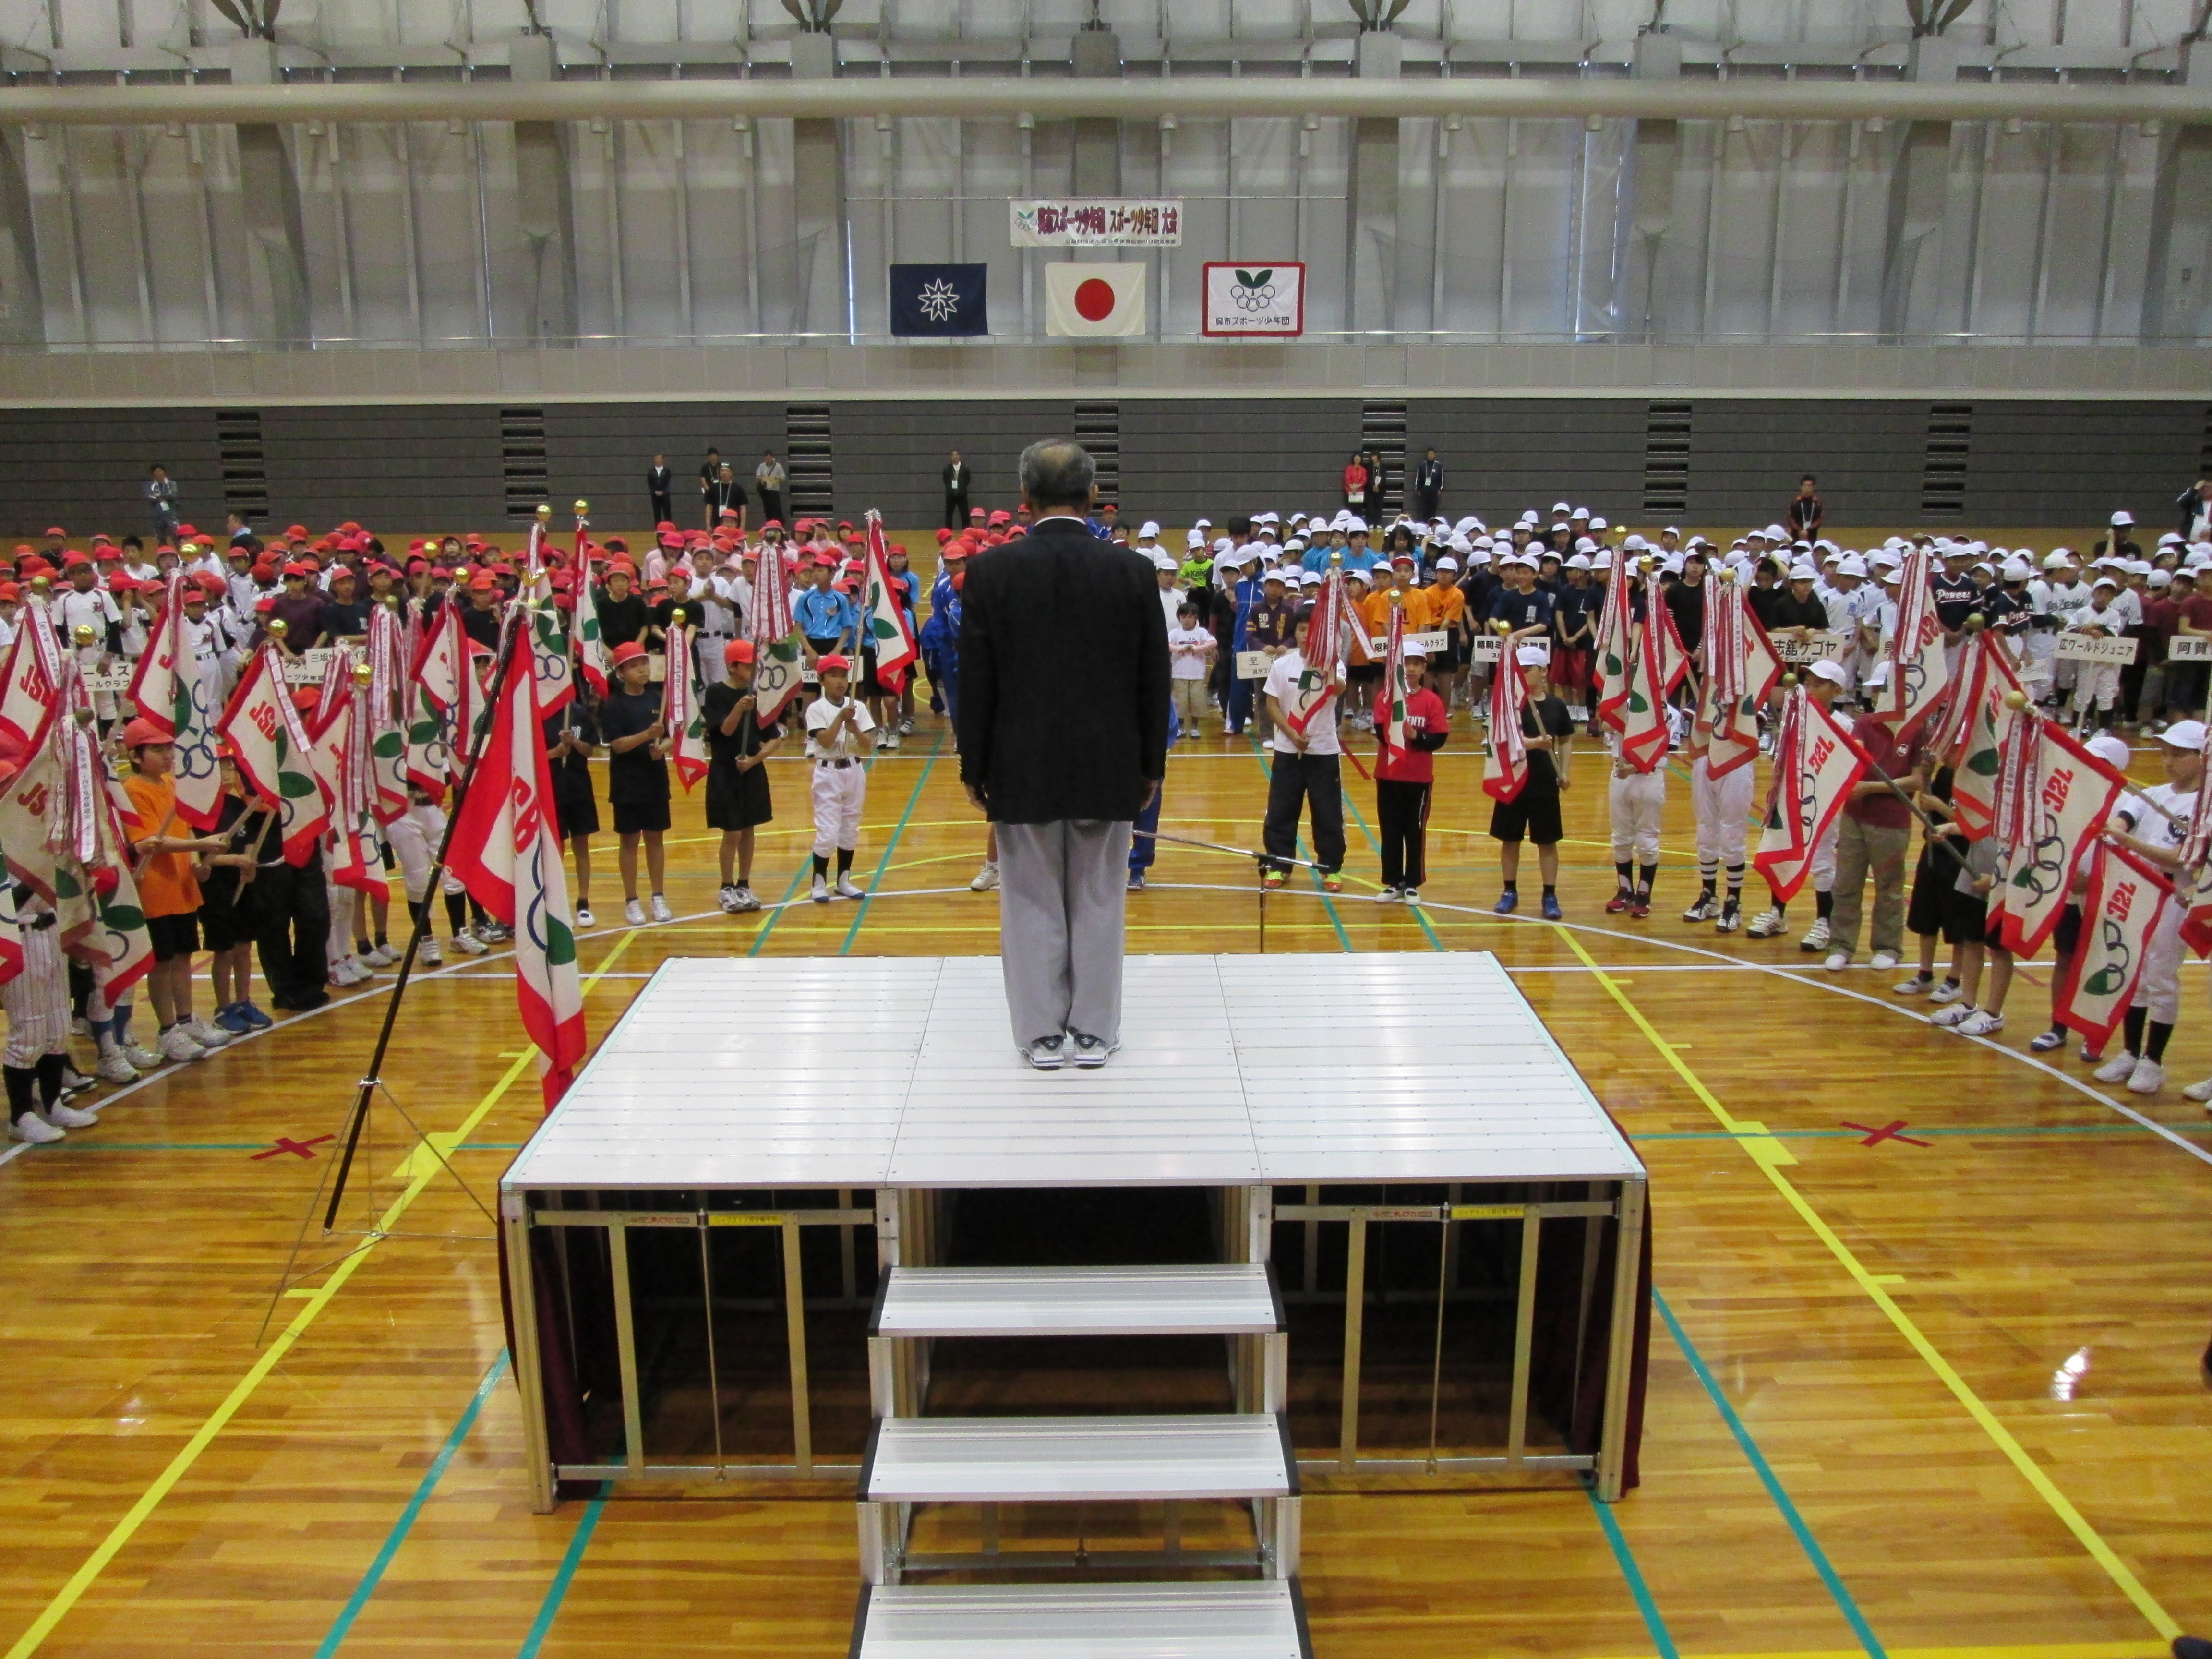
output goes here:
{"type": "Polygon", "coordinates": [[[1283,1329],[1263,1263],[891,1267],[869,1336],[1234,1336],[1283,1329]]]}

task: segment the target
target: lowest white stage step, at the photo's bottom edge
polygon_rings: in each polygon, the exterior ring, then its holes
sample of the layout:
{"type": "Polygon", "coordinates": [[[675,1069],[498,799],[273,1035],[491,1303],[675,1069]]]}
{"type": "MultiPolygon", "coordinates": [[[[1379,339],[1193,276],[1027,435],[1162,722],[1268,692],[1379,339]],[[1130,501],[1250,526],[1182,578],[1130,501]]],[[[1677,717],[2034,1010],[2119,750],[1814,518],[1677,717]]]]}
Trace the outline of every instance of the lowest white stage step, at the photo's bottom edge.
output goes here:
{"type": "Polygon", "coordinates": [[[852,1659],[1312,1659],[1296,1579],[874,1584],[852,1659]]]}

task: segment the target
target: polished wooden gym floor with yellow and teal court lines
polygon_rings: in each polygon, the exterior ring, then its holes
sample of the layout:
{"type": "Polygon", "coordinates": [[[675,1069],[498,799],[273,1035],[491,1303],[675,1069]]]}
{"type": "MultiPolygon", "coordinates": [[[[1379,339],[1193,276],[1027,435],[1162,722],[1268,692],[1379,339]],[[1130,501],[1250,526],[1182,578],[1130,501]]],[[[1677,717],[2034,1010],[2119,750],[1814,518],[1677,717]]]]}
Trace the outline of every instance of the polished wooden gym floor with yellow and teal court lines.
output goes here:
{"type": "MultiPolygon", "coordinates": [[[[1661,1296],[1644,1486],[1617,1509],[1575,1489],[1323,1491],[1305,1522],[1323,1659],[2150,1659],[2163,1635],[2212,1628],[2197,1376],[2212,1119],[2179,1095],[2212,1071],[2203,967],[2152,1102],[2026,1053],[2046,964],[1995,1042],[1951,1037],[1889,993],[1898,973],[1832,975],[1794,940],[1683,925],[1679,774],[1657,909],[1608,918],[1588,750],[1566,922],[1535,918],[1533,856],[1526,907],[1498,918],[1482,763],[1460,730],[1440,759],[1433,909],[1369,902],[1374,796],[1347,770],[1352,887],[1270,905],[1267,949],[1498,951],[1635,1135],[1661,1296]]],[[[799,765],[772,781],[757,887],[781,900],[810,832],[799,765]]],[[[1172,761],[1164,830],[1250,845],[1263,787],[1261,757],[1210,730],[1172,761]]],[[[995,900],[964,887],[982,830],[940,721],[874,768],[865,905],[721,916],[699,814],[679,805],[666,927],[619,925],[602,838],[593,1033],[675,953],[995,947],[995,900]]],[[[1130,900],[1133,945],[1254,949],[1250,880],[1241,860],[1164,849],[1130,900]]],[[[1796,909],[1803,927],[1812,905],[1796,909]]],[[[0,1168],[0,1648],[843,1652],[854,1515],[834,1486],[529,1513],[489,1225],[407,1152],[396,1115],[365,1164],[389,1237],[276,1296],[257,1340],[378,987],[124,1091],[97,1130],[0,1168]]],[[[1431,1002],[1436,1042],[1480,1042],[1444,960],[1431,1002]]],[[[1356,1011],[1343,1035],[1360,1042],[1356,1011]]],[[[518,1048],[502,956],[451,960],[409,993],[387,1073],[487,1199],[538,1117],[518,1048]]],[[[343,1248],[310,1241],[307,1261],[343,1248]]]]}

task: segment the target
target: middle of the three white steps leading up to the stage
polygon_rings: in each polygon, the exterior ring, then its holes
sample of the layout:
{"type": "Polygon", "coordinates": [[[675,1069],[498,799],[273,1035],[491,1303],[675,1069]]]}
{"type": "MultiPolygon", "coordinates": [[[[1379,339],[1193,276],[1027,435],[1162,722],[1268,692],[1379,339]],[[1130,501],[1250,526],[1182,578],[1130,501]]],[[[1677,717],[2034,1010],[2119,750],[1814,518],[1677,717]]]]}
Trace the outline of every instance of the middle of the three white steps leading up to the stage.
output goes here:
{"type": "Polygon", "coordinates": [[[1279,1413],[1161,1418],[876,1418],[869,1504],[1296,1498],[1279,1413]]]}

